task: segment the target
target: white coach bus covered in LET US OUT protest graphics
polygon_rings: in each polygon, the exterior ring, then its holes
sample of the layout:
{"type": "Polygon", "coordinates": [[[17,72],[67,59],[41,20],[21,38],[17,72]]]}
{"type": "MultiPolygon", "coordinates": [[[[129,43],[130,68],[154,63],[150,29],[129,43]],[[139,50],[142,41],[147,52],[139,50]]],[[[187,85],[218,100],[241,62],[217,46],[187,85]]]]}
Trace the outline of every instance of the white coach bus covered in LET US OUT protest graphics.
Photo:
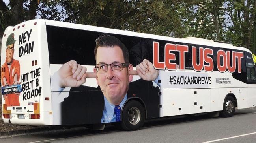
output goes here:
{"type": "Polygon", "coordinates": [[[5,123],[131,131],[256,107],[252,53],[227,42],[36,19],[6,28],[1,55],[5,123]]]}

